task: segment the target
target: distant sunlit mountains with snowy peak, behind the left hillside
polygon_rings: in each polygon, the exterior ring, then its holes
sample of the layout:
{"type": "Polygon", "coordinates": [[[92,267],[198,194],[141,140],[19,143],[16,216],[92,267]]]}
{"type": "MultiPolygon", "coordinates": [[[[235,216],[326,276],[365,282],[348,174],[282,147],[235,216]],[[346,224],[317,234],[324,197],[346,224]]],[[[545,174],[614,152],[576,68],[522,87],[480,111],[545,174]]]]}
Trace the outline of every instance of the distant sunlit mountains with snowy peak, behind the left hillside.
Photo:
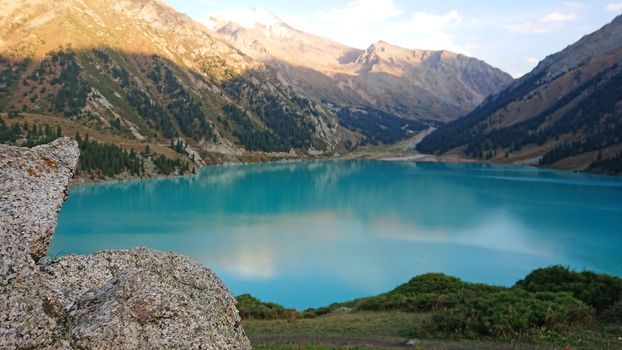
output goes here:
{"type": "Polygon", "coordinates": [[[512,81],[486,63],[447,51],[385,42],[350,48],[290,27],[263,9],[215,15],[208,26],[291,84],[333,107],[369,107],[422,121],[454,120],[512,81]]]}

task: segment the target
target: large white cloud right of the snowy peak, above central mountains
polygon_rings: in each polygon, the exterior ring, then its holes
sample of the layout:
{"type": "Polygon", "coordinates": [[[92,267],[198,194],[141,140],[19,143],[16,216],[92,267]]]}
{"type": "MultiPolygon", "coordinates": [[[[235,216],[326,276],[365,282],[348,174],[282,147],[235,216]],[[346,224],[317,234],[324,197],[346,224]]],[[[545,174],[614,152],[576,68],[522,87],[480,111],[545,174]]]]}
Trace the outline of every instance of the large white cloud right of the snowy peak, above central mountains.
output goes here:
{"type": "Polygon", "coordinates": [[[468,53],[451,34],[462,21],[457,10],[443,14],[405,13],[394,0],[354,0],[340,8],[284,20],[294,28],[360,49],[386,40],[406,48],[468,53]]]}

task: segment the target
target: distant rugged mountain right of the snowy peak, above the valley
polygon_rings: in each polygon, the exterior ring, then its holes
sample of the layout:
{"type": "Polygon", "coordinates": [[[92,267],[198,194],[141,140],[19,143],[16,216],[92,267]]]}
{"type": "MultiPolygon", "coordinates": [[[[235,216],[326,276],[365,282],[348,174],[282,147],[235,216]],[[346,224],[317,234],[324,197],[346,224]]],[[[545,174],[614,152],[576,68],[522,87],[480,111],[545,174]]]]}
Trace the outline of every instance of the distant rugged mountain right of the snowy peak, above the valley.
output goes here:
{"type": "Polygon", "coordinates": [[[391,112],[424,120],[455,120],[512,81],[475,58],[408,50],[383,41],[370,46],[355,64],[357,75],[341,79],[391,112]]]}

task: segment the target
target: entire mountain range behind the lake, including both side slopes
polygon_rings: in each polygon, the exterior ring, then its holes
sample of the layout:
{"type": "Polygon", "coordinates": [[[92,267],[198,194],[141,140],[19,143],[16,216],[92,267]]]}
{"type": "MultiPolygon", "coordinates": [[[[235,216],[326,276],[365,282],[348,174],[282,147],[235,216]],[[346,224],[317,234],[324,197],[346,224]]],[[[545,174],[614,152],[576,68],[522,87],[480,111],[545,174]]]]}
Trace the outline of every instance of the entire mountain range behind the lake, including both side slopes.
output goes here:
{"type": "Polygon", "coordinates": [[[617,174],[621,55],[620,17],[513,80],[449,51],[348,47],[261,8],[201,24],[159,0],[3,1],[0,111],[198,165],[435,129],[419,152],[617,174]]]}

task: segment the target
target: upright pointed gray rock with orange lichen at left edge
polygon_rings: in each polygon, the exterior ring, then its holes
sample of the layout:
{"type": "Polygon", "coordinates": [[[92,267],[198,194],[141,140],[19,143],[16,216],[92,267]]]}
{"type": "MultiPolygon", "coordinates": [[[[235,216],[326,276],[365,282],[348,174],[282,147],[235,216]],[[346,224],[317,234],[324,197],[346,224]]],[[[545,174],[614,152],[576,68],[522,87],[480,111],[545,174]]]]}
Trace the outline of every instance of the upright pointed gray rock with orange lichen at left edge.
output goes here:
{"type": "Polygon", "coordinates": [[[0,145],[0,231],[26,240],[35,260],[47,254],[79,155],[69,138],[34,148],[0,145]]]}

